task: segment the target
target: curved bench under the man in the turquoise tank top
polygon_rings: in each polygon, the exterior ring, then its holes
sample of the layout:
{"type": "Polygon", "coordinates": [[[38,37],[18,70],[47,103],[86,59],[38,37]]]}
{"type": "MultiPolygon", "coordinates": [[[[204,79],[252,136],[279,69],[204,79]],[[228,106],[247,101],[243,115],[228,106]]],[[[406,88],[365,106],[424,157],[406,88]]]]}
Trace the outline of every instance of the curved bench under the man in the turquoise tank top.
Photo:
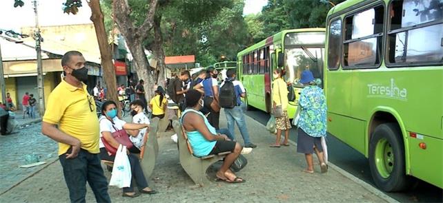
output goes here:
{"type": "Polygon", "coordinates": [[[179,148],[181,167],[183,167],[186,173],[188,173],[190,179],[192,179],[195,184],[199,184],[199,186],[208,184],[209,179],[206,171],[208,171],[210,165],[219,160],[223,160],[230,151],[219,153],[217,155],[196,157],[193,155],[193,149],[190,146],[186,131],[184,131],[183,126],[176,116],[173,118],[173,127],[175,133],[177,133],[177,146],[179,148]]]}

